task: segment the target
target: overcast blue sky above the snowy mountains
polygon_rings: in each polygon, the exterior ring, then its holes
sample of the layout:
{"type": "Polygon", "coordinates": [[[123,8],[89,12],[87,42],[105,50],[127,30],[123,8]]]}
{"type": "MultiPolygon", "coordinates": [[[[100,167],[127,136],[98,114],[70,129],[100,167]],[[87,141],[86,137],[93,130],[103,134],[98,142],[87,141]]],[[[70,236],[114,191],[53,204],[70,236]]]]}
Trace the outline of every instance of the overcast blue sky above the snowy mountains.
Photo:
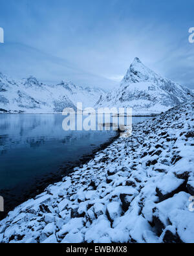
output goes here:
{"type": "Polygon", "coordinates": [[[111,90],[135,57],[194,89],[193,0],[0,0],[0,72],[111,90]]]}

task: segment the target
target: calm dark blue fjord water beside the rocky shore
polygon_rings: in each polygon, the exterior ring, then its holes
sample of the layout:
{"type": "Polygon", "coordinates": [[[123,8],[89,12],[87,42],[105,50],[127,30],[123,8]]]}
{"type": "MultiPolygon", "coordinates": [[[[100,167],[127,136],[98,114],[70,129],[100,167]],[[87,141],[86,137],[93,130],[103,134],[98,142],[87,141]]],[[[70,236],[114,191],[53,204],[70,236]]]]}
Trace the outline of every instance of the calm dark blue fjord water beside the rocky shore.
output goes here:
{"type": "MultiPolygon", "coordinates": [[[[117,135],[113,130],[65,132],[64,118],[0,115],[0,196],[5,198],[5,210],[61,179],[81,158],[117,135]]],[[[146,118],[134,117],[133,123],[146,118]]]]}

